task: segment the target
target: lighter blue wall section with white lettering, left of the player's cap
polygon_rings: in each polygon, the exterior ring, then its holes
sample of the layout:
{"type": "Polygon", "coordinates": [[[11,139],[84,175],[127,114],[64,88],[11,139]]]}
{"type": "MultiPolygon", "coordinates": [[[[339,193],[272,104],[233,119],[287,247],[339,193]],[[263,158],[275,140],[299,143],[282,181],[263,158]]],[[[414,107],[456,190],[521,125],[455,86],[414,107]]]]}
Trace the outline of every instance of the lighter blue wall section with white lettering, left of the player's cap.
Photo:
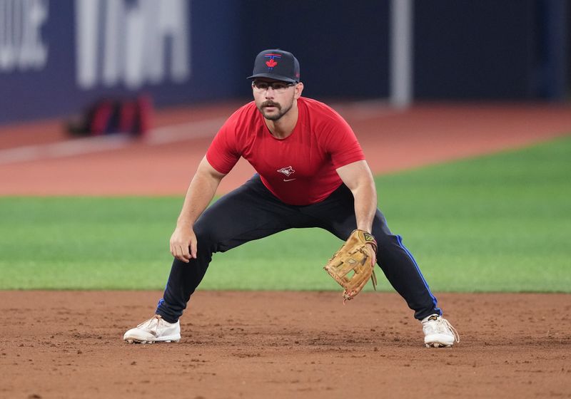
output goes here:
{"type": "Polygon", "coordinates": [[[0,122],[141,91],[156,105],[236,96],[237,14],[234,1],[0,0],[0,122]]]}

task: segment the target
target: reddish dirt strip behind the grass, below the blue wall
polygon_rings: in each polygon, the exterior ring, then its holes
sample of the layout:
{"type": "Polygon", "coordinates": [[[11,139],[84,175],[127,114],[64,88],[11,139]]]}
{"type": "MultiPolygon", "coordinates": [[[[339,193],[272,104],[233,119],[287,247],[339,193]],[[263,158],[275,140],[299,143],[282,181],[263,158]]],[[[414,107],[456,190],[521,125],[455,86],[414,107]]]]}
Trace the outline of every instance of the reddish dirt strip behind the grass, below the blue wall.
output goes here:
{"type": "MultiPolygon", "coordinates": [[[[61,123],[0,128],[0,195],[177,195],[186,192],[213,135],[237,104],[156,113],[141,140],[65,140],[61,123]],[[34,133],[37,134],[34,135],[34,133]],[[31,145],[34,138],[36,145],[31,145]]],[[[373,172],[386,173],[530,145],[571,133],[567,105],[339,104],[373,172]]],[[[253,174],[241,160],[228,192],[253,174]]]]}

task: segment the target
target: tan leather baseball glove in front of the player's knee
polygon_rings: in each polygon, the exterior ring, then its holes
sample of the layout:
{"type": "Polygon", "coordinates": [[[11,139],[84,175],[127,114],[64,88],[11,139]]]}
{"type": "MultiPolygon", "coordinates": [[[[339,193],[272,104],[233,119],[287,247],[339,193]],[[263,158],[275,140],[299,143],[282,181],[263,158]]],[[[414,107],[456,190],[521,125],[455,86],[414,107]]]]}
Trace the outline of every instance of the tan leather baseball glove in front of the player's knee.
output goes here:
{"type": "Polygon", "coordinates": [[[345,244],[335,252],[323,269],[342,286],[343,302],[350,301],[363,289],[369,279],[377,289],[375,261],[377,242],[364,230],[353,230],[345,244]]]}

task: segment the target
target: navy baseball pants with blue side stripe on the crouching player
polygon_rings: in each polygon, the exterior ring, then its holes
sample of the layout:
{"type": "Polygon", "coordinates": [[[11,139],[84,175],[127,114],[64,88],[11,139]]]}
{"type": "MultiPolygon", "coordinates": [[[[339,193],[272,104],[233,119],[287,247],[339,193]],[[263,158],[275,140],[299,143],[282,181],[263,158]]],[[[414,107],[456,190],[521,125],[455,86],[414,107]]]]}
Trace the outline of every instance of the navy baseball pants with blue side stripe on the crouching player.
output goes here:
{"type": "MultiPolygon", "coordinates": [[[[198,218],[194,224],[197,258],[188,264],[174,259],[156,314],[169,323],[182,316],[215,252],[226,252],[285,229],[304,227],[320,227],[345,241],[357,225],[353,200],[353,194],[342,184],[317,204],[284,204],[263,185],[258,175],[254,175],[244,185],[218,199],[198,218]]],[[[401,237],[391,234],[380,210],[375,214],[372,233],[378,243],[378,265],[415,311],[415,318],[421,320],[430,314],[442,314],[415,259],[401,237]]]]}

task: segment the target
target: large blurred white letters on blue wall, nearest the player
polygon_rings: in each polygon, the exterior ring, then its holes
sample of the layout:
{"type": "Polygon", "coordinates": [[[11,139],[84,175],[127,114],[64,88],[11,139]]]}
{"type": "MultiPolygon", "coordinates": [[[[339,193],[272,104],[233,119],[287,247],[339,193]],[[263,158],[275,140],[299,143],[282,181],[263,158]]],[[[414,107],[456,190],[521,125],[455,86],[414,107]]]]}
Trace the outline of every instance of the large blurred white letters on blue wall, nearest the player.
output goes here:
{"type": "Polygon", "coordinates": [[[81,88],[128,88],[191,75],[189,0],[76,0],[81,88]]]}

